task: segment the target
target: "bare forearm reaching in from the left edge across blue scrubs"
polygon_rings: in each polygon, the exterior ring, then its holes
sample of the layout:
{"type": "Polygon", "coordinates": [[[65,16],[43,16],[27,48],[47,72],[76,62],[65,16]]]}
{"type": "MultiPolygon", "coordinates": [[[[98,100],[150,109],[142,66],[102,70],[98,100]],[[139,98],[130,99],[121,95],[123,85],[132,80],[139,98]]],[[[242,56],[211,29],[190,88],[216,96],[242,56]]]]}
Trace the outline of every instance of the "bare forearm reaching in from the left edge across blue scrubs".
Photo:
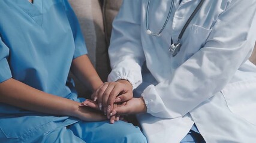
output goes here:
{"type": "Polygon", "coordinates": [[[0,83],[0,102],[41,113],[76,116],[79,102],[47,94],[14,79],[0,83]]]}

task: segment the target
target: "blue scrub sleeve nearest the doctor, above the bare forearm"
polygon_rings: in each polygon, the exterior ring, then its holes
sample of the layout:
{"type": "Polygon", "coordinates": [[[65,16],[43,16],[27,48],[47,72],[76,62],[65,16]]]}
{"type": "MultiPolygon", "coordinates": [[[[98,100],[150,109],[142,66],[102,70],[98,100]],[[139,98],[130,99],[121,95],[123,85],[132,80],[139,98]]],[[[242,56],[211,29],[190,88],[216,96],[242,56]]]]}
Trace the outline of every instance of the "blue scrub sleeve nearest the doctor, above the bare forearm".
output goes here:
{"type": "Polygon", "coordinates": [[[80,28],[79,21],[77,20],[76,14],[71,8],[71,5],[68,2],[68,0],[63,0],[63,4],[64,4],[68,21],[70,22],[70,27],[72,29],[72,33],[74,36],[74,42],[76,46],[74,56],[73,56],[73,59],[74,59],[79,57],[80,55],[87,54],[88,51],[85,45],[85,39],[83,38],[82,30],[80,28]]]}

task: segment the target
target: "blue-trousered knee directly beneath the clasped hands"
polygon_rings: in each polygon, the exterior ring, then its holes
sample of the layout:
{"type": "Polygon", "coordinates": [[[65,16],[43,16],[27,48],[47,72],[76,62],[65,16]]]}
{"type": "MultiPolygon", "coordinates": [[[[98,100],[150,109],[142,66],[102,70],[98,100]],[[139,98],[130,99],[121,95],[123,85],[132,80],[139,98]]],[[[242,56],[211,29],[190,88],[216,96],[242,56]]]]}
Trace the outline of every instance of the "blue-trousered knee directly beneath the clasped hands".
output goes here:
{"type": "Polygon", "coordinates": [[[74,135],[79,136],[79,138],[82,138],[85,142],[147,142],[140,128],[123,121],[118,121],[114,124],[110,124],[108,121],[80,121],[68,126],[68,129],[72,130],[74,135]]]}

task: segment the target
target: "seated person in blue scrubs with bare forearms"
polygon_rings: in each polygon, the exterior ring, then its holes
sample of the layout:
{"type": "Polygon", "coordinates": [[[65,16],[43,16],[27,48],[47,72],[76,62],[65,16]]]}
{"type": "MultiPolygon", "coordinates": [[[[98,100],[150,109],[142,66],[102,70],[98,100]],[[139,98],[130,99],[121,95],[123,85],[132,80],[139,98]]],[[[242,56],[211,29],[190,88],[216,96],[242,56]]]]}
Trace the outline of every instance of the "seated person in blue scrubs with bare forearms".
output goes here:
{"type": "Polygon", "coordinates": [[[93,91],[103,84],[86,54],[67,0],[0,1],[0,142],[146,142],[80,106],[70,70],[93,91]]]}

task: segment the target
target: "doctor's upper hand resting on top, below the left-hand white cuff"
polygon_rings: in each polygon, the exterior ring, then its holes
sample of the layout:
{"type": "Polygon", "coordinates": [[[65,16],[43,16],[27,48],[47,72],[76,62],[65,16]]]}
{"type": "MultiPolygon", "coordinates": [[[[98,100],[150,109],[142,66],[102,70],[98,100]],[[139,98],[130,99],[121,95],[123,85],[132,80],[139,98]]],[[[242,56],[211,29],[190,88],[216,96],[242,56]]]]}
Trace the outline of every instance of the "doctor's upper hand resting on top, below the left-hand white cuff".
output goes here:
{"type": "Polygon", "coordinates": [[[124,102],[132,98],[132,85],[128,80],[118,80],[117,82],[106,82],[92,94],[92,100],[98,101],[98,108],[104,114],[110,116],[114,102],[124,102]]]}

